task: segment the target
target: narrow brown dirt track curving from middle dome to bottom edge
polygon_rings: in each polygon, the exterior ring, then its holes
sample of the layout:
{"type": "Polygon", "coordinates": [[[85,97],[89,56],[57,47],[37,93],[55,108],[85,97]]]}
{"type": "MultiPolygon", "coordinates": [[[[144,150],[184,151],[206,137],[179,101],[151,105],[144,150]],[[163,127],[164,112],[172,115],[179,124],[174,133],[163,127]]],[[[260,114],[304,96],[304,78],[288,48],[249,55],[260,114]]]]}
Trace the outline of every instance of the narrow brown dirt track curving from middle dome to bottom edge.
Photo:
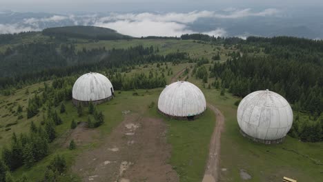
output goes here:
{"type": "Polygon", "coordinates": [[[210,103],[207,104],[217,117],[217,123],[213,130],[210,143],[210,151],[208,153],[208,163],[204,173],[202,182],[216,182],[219,179],[219,154],[221,148],[221,132],[224,129],[224,116],[210,103]]]}

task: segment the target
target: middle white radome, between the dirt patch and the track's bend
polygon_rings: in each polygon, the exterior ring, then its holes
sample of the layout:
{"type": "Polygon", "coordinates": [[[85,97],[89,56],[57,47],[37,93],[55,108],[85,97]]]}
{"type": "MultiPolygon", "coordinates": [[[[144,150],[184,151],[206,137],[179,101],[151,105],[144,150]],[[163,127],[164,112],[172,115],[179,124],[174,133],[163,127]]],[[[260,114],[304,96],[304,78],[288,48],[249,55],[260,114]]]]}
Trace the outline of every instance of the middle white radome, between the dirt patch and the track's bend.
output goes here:
{"type": "Polygon", "coordinates": [[[204,94],[188,81],[172,83],[161,92],[158,109],[174,117],[192,117],[206,110],[204,94]]]}

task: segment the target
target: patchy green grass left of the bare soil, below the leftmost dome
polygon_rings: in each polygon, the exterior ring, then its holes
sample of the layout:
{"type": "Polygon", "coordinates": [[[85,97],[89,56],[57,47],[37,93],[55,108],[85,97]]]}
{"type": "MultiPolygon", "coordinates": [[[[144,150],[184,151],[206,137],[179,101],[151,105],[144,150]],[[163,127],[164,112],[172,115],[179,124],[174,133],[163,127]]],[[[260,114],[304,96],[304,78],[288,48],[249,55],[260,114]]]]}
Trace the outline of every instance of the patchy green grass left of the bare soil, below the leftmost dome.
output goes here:
{"type": "MultiPolygon", "coordinates": [[[[174,74],[176,74],[177,70],[182,70],[186,67],[186,63],[179,64],[174,67],[175,71],[174,74]]],[[[156,65],[153,65],[156,66],[156,65]]],[[[168,65],[170,66],[170,65],[168,65]]],[[[170,76],[171,77],[171,76],[170,76]]],[[[40,121],[43,119],[43,110],[40,110],[39,114],[35,117],[32,117],[31,119],[26,119],[26,107],[28,106],[28,99],[34,94],[32,92],[38,90],[39,88],[43,88],[43,83],[38,83],[35,85],[30,85],[26,88],[22,88],[20,90],[16,90],[14,95],[10,95],[8,97],[1,96],[0,101],[3,101],[3,105],[6,103],[12,103],[10,105],[14,104],[14,101],[16,101],[16,105],[20,104],[23,106],[23,116],[24,118],[19,120],[19,123],[17,125],[12,125],[12,130],[10,131],[4,131],[4,128],[1,128],[3,130],[0,130],[0,136],[1,136],[1,145],[0,147],[3,147],[3,145],[9,145],[8,142],[10,141],[10,138],[12,136],[12,132],[16,132],[17,134],[21,132],[29,132],[30,123],[31,121],[34,121],[36,125],[40,124],[40,121]],[[28,88],[29,94],[25,94],[26,89],[28,88]],[[20,99],[19,99],[20,98],[20,99]],[[17,101],[17,99],[19,99],[17,101]],[[23,101],[25,100],[25,101],[23,101]]],[[[26,174],[28,176],[28,179],[32,181],[39,181],[43,179],[43,174],[46,171],[46,166],[50,163],[52,158],[55,156],[55,154],[63,154],[67,161],[68,166],[71,166],[72,163],[74,163],[77,155],[81,153],[84,150],[91,150],[93,148],[97,148],[99,145],[101,145],[101,142],[104,141],[102,139],[106,138],[112,130],[119,125],[121,121],[123,121],[124,116],[122,115],[122,111],[124,110],[130,110],[131,112],[137,112],[139,114],[147,114],[148,105],[154,101],[157,103],[157,99],[159,97],[159,93],[161,92],[162,88],[153,89],[153,90],[133,90],[133,91],[127,91],[127,92],[115,92],[115,98],[111,101],[108,101],[106,103],[102,103],[100,105],[97,105],[97,110],[102,111],[106,122],[104,125],[101,125],[99,128],[93,129],[97,130],[99,133],[98,136],[95,136],[95,138],[92,138],[92,142],[88,143],[85,146],[79,147],[77,150],[68,150],[67,148],[63,147],[63,144],[66,142],[66,137],[69,135],[70,132],[70,122],[72,119],[75,119],[75,121],[87,121],[88,119],[88,109],[84,108],[84,115],[82,117],[77,117],[77,109],[74,105],[72,105],[71,101],[65,101],[64,104],[66,105],[66,112],[59,114],[61,119],[63,120],[63,124],[57,125],[55,130],[57,131],[58,138],[55,139],[53,143],[50,144],[50,155],[46,156],[45,159],[35,163],[35,165],[27,169],[25,166],[19,168],[15,172],[13,172],[13,176],[16,178],[19,178],[22,174],[26,174]],[[137,92],[139,96],[133,96],[133,92],[137,92]],[[140,103],[140,104],[138,104],[140,103]],[[39,175],[41,174],[41,175],[39,175]]],[[[1,105],[0,105],[1,106],[1,105]]],[[[17,106],[14,106],[14,110],[16,110],[17,106]]],[[[59,106],[55,108],[57,110],[57,113],[59,113],[59,106]]],[[[1,108],[3,113],[8,112],[8,108],[1,108]]],[[[13,115],[0,118],[1,125],[6,125],[6,123],[10,123],[11,121],[16,121],[17,117],[14,117],[13,115]],[[6,120],[5,120],[6,119],[6,120]]],[[[93,136],[89,136],[93,137],[93,136]]],[[[73,178],[75,174],[72,174],[72,172],[68,171],[68,176],[72,175],[73,178]]],[[[66,179],[70,180],[70,179],[66,179]]]]}

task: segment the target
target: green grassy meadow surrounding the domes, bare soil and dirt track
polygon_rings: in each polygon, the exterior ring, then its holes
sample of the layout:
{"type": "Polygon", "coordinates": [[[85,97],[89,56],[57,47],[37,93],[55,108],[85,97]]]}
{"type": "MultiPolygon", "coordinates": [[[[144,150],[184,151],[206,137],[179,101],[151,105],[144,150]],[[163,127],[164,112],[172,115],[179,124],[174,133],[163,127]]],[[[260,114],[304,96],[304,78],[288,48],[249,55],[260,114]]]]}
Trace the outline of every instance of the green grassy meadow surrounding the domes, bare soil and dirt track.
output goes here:
{"type": "MultiPolygon", "coordinates": [[[[43,39],[39,37],[39,39],[43,39]]],[[[190,57],[200,58],[211,57],[218,51],[221,52],[221,61],[226,61],[226,54],[232,50],[225,50],[222,46],[208,45],[202,43],[194,43],[193,41],[177,41],[177,40],[141,40],[133,39],[130,41],[81,41],[78,40],[77,49],[86,47],[99,48],[105,46],[111,48],[127,48],[129,46],[144,45],[159,48],[159,54],[167,54],[174,51],[189,52],[190,57]],[[218,50],[219,49],[219,50],[218,50]]],[[[0,47],[1,50],[1,47],[0,47]]],[[[168,68],[173,70],[173,74],[167,75],[164,72],[168,83],[170,79],[180,70],[190,67],[193,63],[182,63],[179,65],[171,65],[168,63],[168,68]]],[[[206,68],[211,64],[206,65],[206,68]]],[[[144,65],[137,67],[131,72],[125,73],[127,77],[133,74],[144,72],[148,74],[150,70],[160,72],[161,68],[166,68],[166,65],[161,65],[157,68],[157,64],[144,65]]],[[[124,74],[124,73],[123,73],[124,74]]],[[[239,134],[239,126],[236,119],[237,106],[235,101],[241,99],[233,97],[226,92],[225,96],[220,96],[219,90],[214,88],[207,89],[208,83],[214,81],[209,79],[205,83],[206,88],[201,80],[197,80],[189,75],[188,81],[195,83],[202,92],[204,92],[208,103],[215,105],[224,114],[225,128],[221,138],[221,161],[222,169],[220,181],[242,181],[239,176],[240,170],[248,172],[252,176],[249,181],[282,181],[282,176],[288,176],[297,181],[322,181],[323,179],[323,143],[303,143],[290,136],[286,136],[284,143],[278,145],[264,145],[248,141],[239,134]]],[[[50,81],[48,81],[50,84],[50,81]]],[[[29,132],[31,121],[36,125],[40,125],[43,119],[43,111],[31,119],[26,118],[26,107],[28,98],[32,97],[35,92],[41,93],[43,83],[29,85],[25,88],[15,91],[14,95],[0,96],[0,148],[10,144],[10,138],[13,132],[17,134],[21,132],[29,132]],[[26,90],[28,89],[28,94],[26,90]],[[17,105],[23,107],[23,119],[17,119],[17,105]],[[6,127],[10,123],[17,124],[6,127]],[[7,128],[10,128],[8,130],[7,128]],[[6,131],[7,130],[7,131],[6,131]]],[[[125,110],[137,112],[144,116],[156,117],[163,119],[168,125],[167,139],[172,145],[171,157],[168,163],[173,165],[173,169],[179,174],[181,182],[201,181],[206,168],[206,160],[208,158],[208,145],[211,139],[211,134],[215,126],[215,115],[211,110],[206,112],[195,121],[176,121],[161,116],[157,112],[157,101],[159,94],[163,88],[153,90],[133,90],[133,91],[116,91],[115,98],[106,103],[97,105],[97,110],[102,111],[105,116],[105,123],[96,130],[99,134],[91,136],[92,142],[85,146],[77,148],[77,150],[68,150],[63,147],[70,132],[70,122],[75,121],[86,122],[88,119],[87,108],[84,108],[84,115],[77,117],[77,109],[72,105],[71,101],[66,101],[66,113],[59,114],[63,120],[62,125],[56,127],[58,139],[50,144],[50,155],[36,163],[32,168],[27,169],[21,167],[13,175],[18,177],[23,173],[28,176],[30,181],[39,181],[43,179],[43,173],[46,170],[46,165],[50,163],[55,154],[63,154],[66,157],[68,166],[71,166],[77,154],[86,150],[97,148],[101,145],[101,139],[109,136],[110,132],[124,119],[122,114],[125,110]],[[138,96],[134,96],[133,92],[137,92],[138,96]],[[148,108],[152,102],[155,103],[153,108],[148,108]]],[[[59,107],[56,108],[59,112],[59,107]]],[[[66,180],[80,181],[77,174],[72,174],[69,170],[66,180]]]]}

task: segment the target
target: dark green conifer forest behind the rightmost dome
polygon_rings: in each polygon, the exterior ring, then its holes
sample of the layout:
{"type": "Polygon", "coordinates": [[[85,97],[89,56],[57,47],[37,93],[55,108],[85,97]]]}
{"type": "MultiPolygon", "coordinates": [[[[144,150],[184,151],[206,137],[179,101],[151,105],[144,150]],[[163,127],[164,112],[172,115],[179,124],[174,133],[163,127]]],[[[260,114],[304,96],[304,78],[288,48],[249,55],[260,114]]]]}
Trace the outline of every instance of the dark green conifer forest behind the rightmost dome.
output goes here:
{"type": "MultiPolygon", "coordinates": [[[[205,35],[186,37],[217,42],[205,35]]],[[[215,78],[213,86],[237,97],[264,89],[281,94],[296,113],[289,134],[302,141],[322,141],[323,41],[249,37],[236,46],[240,52],[233,52],[225,63],[215,62],[209,74],[204,65],[197,64],[196,77],[215,78]]]]}

